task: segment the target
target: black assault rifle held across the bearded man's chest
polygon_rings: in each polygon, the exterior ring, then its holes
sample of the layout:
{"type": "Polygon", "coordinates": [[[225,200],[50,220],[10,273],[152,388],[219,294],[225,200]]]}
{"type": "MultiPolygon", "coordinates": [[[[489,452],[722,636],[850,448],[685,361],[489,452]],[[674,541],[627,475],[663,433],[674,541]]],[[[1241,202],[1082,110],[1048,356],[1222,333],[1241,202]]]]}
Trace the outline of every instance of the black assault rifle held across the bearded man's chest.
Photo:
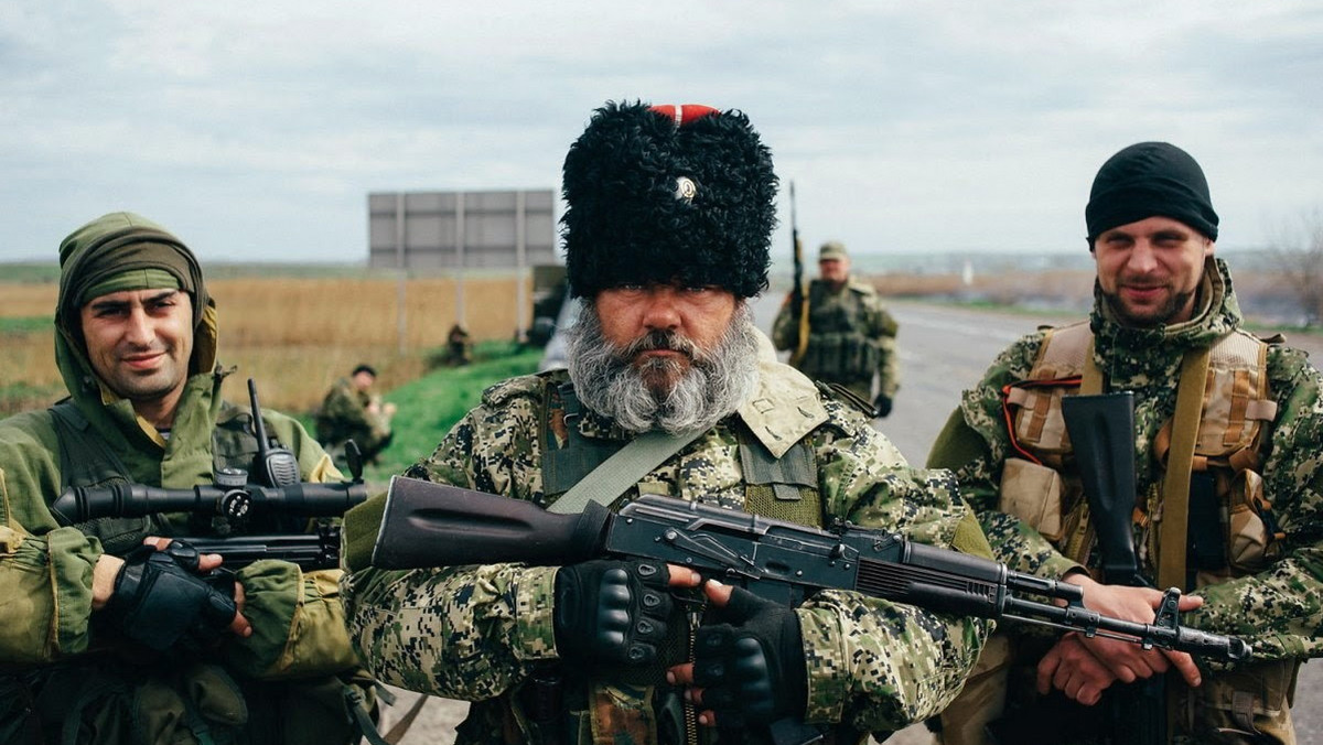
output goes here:
{"type": "MultiPolygon", "coordinates": [[[[599,556],[689,566],[792,606],[819,589],[836,588],[941,613],[1122,639],[1144,648],[1224,660],[1250,656],[1244,640],[1181,626],[1175,614],[1155,623],[1101,615],[1084,606],[1077,585],[1012,572],[1004,564],[916,544],[896,533],[851,523],[820,531],[656,495],[642,495],[617,513],[590,502],[578,515],[557,515],[529,502],[394,476],[372,564],[382,569],[507,561],[561,566],[599,556]]],[[[1175,607],[1180,592],[1168,593],[1175,607]]]]}

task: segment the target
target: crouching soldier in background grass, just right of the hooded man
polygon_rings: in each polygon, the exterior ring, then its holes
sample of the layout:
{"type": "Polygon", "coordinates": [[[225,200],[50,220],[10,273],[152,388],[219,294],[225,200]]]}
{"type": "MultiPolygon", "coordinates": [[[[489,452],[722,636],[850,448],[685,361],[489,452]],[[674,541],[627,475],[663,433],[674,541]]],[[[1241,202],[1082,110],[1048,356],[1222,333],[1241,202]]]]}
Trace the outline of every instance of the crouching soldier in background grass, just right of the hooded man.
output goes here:
{"type": "Polygon", "coordinates": [[[337,459],[352,439],[364,462],[373,463],[394,437],[390,419],[396,416],[396,405],[382,402],[372,390],[376,381],[377,371],[372,365],[359,365],[349,377],[331,386],[318,409],[318,442],[337,459]]]}

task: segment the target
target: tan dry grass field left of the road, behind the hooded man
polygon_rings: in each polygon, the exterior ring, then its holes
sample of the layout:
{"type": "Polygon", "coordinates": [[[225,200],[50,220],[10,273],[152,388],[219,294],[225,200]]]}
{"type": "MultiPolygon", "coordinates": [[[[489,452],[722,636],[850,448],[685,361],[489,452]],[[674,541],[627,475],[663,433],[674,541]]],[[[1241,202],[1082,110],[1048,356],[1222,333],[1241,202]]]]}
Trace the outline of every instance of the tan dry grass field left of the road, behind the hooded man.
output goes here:
{"type": "MultiPolygon", "coordinates": [[[[331,382],[359,363],[378,369],[384,389],[418,377],[427,352],[445,344],[458,310],[456,283],[447,278],[405,282],[402,335],[394,279],[255,277],[212,281],[208,290],[220,318],[221,361],[237,367],[238,378],[257,380],[265,406],[288,412],[315,408],[331,382]]],[[[464,281],[466,327],[475,341],[513,339],[516,290],[513,277],[464,281]]],[[[525,286],[525,298],[528,291],[525,286]]],[[[0,283],[0,319],[50,318],[57,292],[50,283],[0,283]]],[[[0,416],[45,406],[64,392],[52,329],[32,326],[37,328],[0,331],[0,393],[11,389],[0,398],[0,416]]],[[[235,400],[246,396],[242,384],[226,390],[235,400]]]]}

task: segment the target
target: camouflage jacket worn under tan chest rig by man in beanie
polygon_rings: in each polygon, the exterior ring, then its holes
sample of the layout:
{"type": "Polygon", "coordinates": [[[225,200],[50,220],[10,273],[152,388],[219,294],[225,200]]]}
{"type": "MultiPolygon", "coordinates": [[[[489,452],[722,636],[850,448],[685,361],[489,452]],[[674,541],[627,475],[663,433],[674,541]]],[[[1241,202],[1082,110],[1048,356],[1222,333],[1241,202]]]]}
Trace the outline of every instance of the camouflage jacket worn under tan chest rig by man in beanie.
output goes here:
{"type": "MultiPolygon", "coordinates": [[[[1200,298],[1192,320],[1164,328],[1122,327],[1101,298],[1090,318],[1094,360],[1109,389],[1135,392],[1139,494],[1158,488],[1163,478],[1154,435],[1175,412],[1183,353],[1237,332],[1241,323],[1230,274],[1220,259],[1209,261],[1200,298]]],[[[1040,331],[1012,344],[978,386],[964,392],[933,446],[929,466],[955,470],[960,492],[978,512],[1000,561],[1060,577],[1076,564],[1033,528],[998,511],[1002,468],[1012,455],[1002,390],[1028,377],[1043,337],[1040,331]]],[[[1204,606],[1183,619],[1244,638],[1254,646],[1256,659],[1308,658],[1323,650],[1323,458],[1318,446],[1323,442],[1323,377],[1303,352],[1281,344],[1267,348],[1267,376],[1278,409],[1271,435],[1262,443],[1263,491],[1286,532],[1285,550],[1267,570],[1201,588],[1197,594],[1204,606]]],[[[1151,564],[1143,569],[1154,577],[1151,564]]]]}

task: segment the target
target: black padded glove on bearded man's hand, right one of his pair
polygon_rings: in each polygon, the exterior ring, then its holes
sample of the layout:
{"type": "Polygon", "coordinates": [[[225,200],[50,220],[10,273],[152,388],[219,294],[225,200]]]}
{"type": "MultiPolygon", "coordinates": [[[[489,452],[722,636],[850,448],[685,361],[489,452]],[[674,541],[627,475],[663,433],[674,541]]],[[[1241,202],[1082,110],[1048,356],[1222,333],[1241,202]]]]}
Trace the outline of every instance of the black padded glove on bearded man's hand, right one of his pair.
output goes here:
{"type": "Polygon", "coordinates": [[[699,627],[693,685],[703,689],[700,708],[712,709],[722,728],[802,720],[808,670],[795,611],[733,588],[716,613],[730,623],[699,627]]]}

